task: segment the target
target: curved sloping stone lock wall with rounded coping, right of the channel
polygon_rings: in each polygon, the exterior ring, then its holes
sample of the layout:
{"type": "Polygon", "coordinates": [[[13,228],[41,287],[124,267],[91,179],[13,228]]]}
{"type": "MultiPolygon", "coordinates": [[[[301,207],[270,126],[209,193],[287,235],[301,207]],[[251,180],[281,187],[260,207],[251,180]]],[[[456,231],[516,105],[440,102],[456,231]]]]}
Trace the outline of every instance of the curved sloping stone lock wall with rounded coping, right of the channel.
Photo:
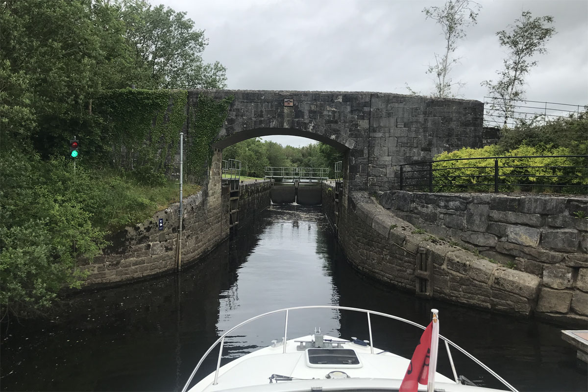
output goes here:
{"type": "MultiPolygon", "coordinates": [[[[332,196],[326,197],[332,195],[327,187],[332,185],[323,184],[323,210],[329,216],[334,200],[332,196]]],[[[577,293],[576,301],[581,301],[579,297],[585,294],[584,273],[574,279],[577,291],[569,287],[561,290],[546,287],[544,278],[491,262],[450,240],[422,233],[395,213],[396,210],[385,209],[365,192],[350,193],[342,208],[339,243],[349,261],[366,275],[416,293],[416,257],[424,252],[433,269],[430,280],[433,298],[499,313],[546,316],[555,312],[544,311],[544,304],[560,303],[553,292],[566,293],[559,294],[566,297],[562,301],[564,305],[558,305],[562,313],[552,319],[574,326],[585,326],[588,321],[588,317],[573,310],[570,304],[574,293],[577,293]],[[570,302],[566,308],[568,296],[570,302]]]]}

